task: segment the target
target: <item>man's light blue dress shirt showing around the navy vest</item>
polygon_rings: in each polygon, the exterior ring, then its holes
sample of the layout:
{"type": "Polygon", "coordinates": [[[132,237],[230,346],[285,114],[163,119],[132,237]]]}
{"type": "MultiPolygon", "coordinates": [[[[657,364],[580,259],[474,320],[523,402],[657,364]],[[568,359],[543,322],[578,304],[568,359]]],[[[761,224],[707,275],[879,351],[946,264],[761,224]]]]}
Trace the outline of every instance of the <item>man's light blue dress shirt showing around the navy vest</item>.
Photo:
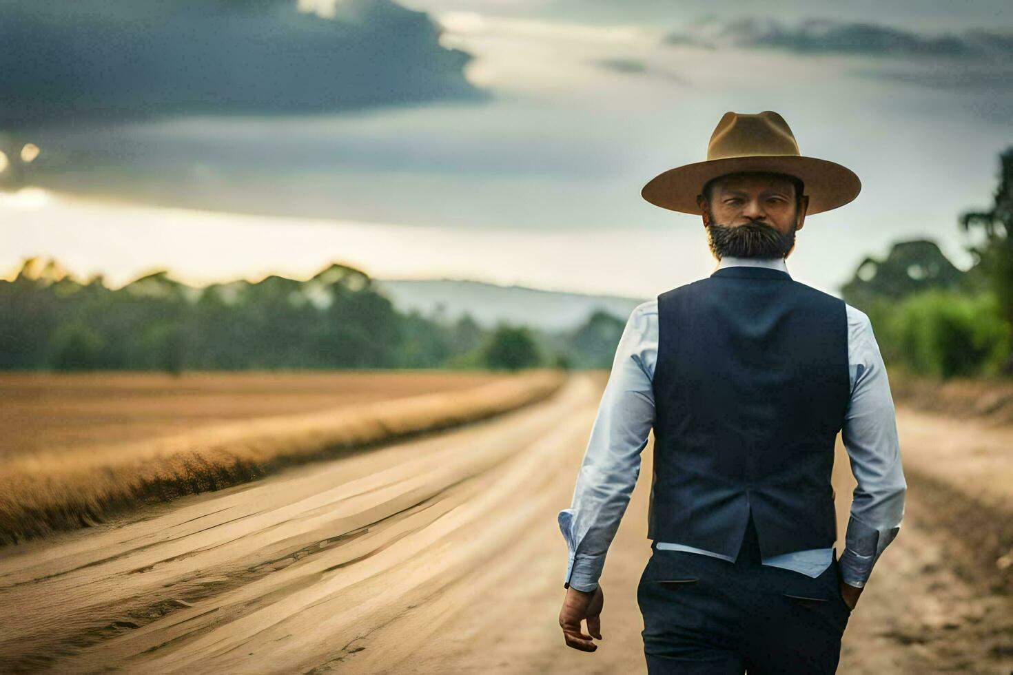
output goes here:
{"type": "MultiPolygon", "coordinates": [[[[731,265],[788,271],[783,258],[725,256],[717,268],[731,265]]],[[[907,483],[893,399],[872,325],[863,312],[850,305],[846,309],[851,397],[841,439],[857,487],[852,494],[845,550],[838,560],[845,583],[860,587],[900,530],[907,483]]],[[[640,473],[640,452],[654,423],[651,379],[656,358],[654,299],[638,305],[626,323],[580,463],[572,504],[558,515],[569,550],[566,580],[579,591],[592,591],[598,585],[609,544],[640,473]]],[[[676,541],[655,541],[655,545],[734,561],[676,541]]],[[[763,564],[817,577],[833,560],[833,549],[810,549],[765,558],[763,564]]]]}

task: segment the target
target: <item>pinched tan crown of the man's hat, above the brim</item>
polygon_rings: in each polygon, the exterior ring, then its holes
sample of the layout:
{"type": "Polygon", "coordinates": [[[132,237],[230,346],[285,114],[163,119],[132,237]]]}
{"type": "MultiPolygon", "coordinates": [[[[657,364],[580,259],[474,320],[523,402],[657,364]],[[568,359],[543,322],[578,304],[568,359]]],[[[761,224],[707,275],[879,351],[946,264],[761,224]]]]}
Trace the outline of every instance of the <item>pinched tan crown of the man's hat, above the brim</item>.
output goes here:
{"type": "Polygon", "coordinates": [[[707,161],[799,154],[788,122],[773,110],[757,114],[725,112],[707,144],[707,161]]]}

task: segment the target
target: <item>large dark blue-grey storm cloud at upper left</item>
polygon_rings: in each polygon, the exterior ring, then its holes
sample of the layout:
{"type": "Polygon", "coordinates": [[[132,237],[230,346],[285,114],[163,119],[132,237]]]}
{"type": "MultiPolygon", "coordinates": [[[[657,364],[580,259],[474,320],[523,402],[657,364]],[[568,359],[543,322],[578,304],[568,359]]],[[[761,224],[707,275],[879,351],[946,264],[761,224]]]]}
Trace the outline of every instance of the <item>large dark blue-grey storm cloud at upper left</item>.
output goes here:
{"type": "Polygon", "coordinates": [[[0,129],[479,96],[441,30],[390,0],[0,0],[0,129]]]}

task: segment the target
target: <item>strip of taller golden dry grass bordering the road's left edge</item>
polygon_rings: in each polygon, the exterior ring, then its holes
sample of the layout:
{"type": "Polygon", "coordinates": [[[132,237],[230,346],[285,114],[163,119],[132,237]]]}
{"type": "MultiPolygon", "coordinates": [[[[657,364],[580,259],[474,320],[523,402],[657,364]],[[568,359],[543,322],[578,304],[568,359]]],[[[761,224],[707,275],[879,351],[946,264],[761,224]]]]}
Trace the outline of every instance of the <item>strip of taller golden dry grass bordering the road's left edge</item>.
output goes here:
{"type": "Polygon", "coordinates": [[[218,490],[280,468],[481,420],[541,401],[563,372],[174,435],[0,457],[0,544],[101,522],[145,503],[218,490]]]}

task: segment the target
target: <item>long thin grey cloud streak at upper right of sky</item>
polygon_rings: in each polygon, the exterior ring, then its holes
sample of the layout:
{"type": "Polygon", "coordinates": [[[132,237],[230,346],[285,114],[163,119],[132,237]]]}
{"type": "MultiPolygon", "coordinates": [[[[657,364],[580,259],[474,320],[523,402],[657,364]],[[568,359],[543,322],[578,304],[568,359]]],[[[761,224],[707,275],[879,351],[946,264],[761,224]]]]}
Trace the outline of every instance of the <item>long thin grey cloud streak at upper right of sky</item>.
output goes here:
{"type": "Polygon", "coordinates": [[[773,48],[801,54],[876,57],[1008,60],[1013,32],[984,29],[928,34],[866,22],[805,19],[789,25],[776,19],[747,17],[720,23],[705,21],[670,34],[672,45],[718,48],[773,48]]]}

